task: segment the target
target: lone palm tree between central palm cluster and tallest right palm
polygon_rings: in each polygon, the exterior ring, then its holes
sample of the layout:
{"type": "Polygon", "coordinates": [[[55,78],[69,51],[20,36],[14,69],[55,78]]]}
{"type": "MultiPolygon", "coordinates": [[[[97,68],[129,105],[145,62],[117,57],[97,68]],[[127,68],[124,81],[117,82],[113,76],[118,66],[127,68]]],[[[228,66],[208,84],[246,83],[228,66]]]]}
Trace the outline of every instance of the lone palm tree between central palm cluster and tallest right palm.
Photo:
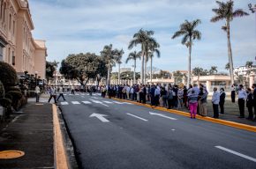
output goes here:
{"type": "Polygon", "coordinates": [[[181,43],[183,45],[186,45],[189,48],[187,85],[191,84],[192,42],[193,40],[201,39],[200,31],[195,29],[196,26],[198,26],[200,23],[201,23],[200,19],[193,20],[192,22],[185,20],[184,23],[180,25],[180,29],[176,33],[174,33],[174,35],[171,37],[172,39],[175,39],[183,35],[183,39],[181,43]]]}

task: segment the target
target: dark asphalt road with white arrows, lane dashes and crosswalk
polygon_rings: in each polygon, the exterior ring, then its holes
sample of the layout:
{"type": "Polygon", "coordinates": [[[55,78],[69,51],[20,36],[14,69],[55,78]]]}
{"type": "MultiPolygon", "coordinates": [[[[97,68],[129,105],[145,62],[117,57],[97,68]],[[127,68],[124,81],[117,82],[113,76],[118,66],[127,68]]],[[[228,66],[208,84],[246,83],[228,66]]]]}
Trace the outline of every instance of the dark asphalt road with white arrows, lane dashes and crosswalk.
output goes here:
{"type": "Polygon", "coordinates": [[[256,133],[97,94],[65,97],[81,168],[256,168],[256,133]]]}

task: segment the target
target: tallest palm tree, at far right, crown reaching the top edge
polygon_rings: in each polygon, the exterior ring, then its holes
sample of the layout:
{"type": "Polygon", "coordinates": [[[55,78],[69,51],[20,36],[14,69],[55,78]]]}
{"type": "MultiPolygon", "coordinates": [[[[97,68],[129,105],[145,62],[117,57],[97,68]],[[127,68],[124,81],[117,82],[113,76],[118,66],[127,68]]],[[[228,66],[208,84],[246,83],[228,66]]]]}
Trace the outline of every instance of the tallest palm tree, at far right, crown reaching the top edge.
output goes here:
{"type": "Polygon", "coordinates": [[[234,2],[232,0],[224,3],[220,1],[216,1],[216,3],[219,5],[219,8],[213,9],[215,12],[215,17],[211,18],[211,22],[217,22],[219,20],[225,19],[226,24],[225,26],[222,26],[222,29],[227,33],[228,38],[228,55],[229,55],[229,62],[230,62],[230,78],[231,78],[231,84],[234,84],[234,66],[233,66],[233,58],[232,58],[232,50],[231,50],[231,42],[230,42],[230,22],[233,20],[233,18],[236,17],[244,17],[246,15],[249,15],[242,9],[234,10],[234,2]]]}

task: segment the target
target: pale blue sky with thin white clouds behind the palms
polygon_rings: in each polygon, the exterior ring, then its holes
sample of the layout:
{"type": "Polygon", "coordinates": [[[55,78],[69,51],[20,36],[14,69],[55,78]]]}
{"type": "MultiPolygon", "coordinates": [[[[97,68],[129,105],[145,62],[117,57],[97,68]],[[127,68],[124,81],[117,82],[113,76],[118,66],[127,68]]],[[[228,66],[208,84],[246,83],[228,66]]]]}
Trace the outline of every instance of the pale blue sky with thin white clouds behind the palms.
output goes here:
{"type": "MultiPolygon", "coordinates": [[[[255,63],[256,17],[248,10],[249,3],[255,1],[235,2],[235,9],[250,12],[250,16],[235,18],[231,23],[235,66],[245,65],[246,61],[255,63]]],[[[181,45],[181,38],[172,40],[171,36],[185,19],[200,18],[202,39],[192,47],[192,68],[217,66],[225,71],[228,62],[226,33],[221,29],[224,21],[210,22],[214,16],[211,9],[217,7],[212,0],[30,0],[29,5],[34,39],[47,40],[49,61],[61,62],[67,55],[81,52],[99,55],[104,45],[112,43],[114,48],[124,49],[124,62],[136,49],[127,49],[132,35],[143,28],[153,30],[161,45],[161,58],[154,58],[155,67],[186,70],[188,49],[181,45]]],[[[132,62],[122,64],[131,66],[132,62]]]]}

